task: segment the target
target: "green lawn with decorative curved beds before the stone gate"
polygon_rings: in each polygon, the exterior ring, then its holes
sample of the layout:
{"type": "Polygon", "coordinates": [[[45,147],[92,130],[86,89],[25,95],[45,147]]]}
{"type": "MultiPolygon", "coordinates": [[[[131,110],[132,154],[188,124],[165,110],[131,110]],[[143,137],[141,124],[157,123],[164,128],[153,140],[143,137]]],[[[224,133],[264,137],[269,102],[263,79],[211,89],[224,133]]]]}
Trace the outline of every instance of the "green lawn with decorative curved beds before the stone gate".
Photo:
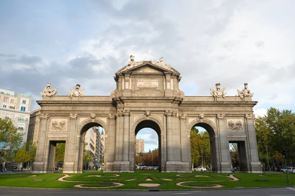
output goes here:
{"type": "MultiPolygon", "coordinates": [[[[287,184],[286,174],[283,173],[208,173],[208,172],[192,172],[192,173],[159,173],[158,171],[137,171],[135,173],[103,173],[99,171],[89,171],[79,174],[70,174],[64,180],[70,182],[60,182],[57,179],[62,177],[62,173],[46,173],[34,174],[16,173],[8,175],[0,175],[0,186],[5,187],[29,187],[29,188],[56,188],[56,189],[77,189],[74,185],[83,184],[84,187],[108,187],[116,186],[112,183],[117,182],[124,184],[120,187],[111,187],[107,189],[148,189],[148,187],[138,186],[140,183],[158,183],[161,184],[158,189],[198,189],[198,187],[213,186],[213,184],[222,185],[220,189],[231,189],[236,187],[275,187],[289,186],[287,184]],[[119,176],[115,176],[118,174],[119,176]],[[226,177],[234,174],[239,180],[226,177]],[[101,177],[88,177],[89,175],[101,175],[101,177]],[[202,176],[195,176],[202,175],[202,176]],[[265,175],[265,176],[261,176],[265,175]],[[151,179],[147,181],[146,179],[151,179]],[[43,181],[31,181],[31,179],[42,179],[43,181]],[[132,180],[135,179],[135,180],[132,180]],[[268,182],[258,182],[257,179],[267,179],[268,182]],[[101,183],[100,183],[101,182],[101,183]],[[105,182],[105,183],[103,183],[105,182]],[[177,186],[179,182],[185,186],[177,186]]],[[[295,174],[289,174],[291,186],[295,185],[295,174]]],[[[103,189],[103,188],[102,188],[103,189]]]]}

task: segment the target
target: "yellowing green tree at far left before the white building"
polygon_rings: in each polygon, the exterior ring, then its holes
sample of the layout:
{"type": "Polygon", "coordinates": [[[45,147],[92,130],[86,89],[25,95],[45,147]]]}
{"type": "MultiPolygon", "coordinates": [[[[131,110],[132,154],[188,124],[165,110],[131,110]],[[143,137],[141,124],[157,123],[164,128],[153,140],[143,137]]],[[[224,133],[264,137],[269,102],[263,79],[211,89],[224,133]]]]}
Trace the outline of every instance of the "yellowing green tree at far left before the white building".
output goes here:
{"type": "Polygon", "coordinates": [[[0,162],[12,161],[15,150],[21,147],[23,134],[10,119],[0,118],[0,162]]]}

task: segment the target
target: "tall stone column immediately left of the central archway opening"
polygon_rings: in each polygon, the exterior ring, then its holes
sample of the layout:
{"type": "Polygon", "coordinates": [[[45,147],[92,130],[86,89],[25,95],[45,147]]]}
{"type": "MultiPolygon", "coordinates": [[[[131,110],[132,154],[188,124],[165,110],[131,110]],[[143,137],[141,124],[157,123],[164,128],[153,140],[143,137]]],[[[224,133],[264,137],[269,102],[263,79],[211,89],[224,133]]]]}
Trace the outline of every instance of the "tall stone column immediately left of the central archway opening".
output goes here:
{"type": "Polygon", "coordinates": [[[124,125],[123,125],[123,154],[121,162],[121,171],[129,171],[129,116],[130,111],[123,110],[124,125]]]}

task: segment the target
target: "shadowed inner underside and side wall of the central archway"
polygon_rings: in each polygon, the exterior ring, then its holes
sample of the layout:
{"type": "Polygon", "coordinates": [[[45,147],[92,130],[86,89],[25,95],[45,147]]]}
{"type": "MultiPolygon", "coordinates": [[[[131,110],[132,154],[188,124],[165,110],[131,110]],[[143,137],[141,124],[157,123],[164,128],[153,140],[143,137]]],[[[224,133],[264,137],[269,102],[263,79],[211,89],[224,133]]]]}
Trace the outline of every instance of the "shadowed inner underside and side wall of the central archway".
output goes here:
{"type": "MultiPolygon", "coordinates": [[[[159,172],[162,171],[162,146],[161,146],[161,128],[160,126],[158,125],[158,123],[152,121],[152,120],[143,120],[141,122],[139,122],[136,127],[135,127],[135,131],[134,131],[134,134],[135,134],[135,141],[136,142],[136,135],[137,133],[143,129],[143,128],[151,128],[153,129],[157,135],[158,135],[158,142],[159,142],[159,157],[158,157],[158,164],[159,164],[159,172]]],[[[134,149],[135,150],[135,149],[134,149]]],[[[135,159],[134,159],[134,163],[136,163],[135,159]]]]}

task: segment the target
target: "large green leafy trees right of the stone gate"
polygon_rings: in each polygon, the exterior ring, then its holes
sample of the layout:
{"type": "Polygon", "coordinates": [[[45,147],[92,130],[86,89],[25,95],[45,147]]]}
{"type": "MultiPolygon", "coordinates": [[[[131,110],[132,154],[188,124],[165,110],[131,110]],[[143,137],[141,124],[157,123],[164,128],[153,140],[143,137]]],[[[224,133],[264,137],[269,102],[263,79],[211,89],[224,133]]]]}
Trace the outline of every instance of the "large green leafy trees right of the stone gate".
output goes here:
{"type": "Polygon", "coordinates": [[[291,110],[269,108],[264,117],[255,120],[255,129],[262,162],[266,161],[266,146],[268,157],[276,157],[277,161],[282,148],[286,149],[287,159],[295,158],[295,113],[291,110]]]}

